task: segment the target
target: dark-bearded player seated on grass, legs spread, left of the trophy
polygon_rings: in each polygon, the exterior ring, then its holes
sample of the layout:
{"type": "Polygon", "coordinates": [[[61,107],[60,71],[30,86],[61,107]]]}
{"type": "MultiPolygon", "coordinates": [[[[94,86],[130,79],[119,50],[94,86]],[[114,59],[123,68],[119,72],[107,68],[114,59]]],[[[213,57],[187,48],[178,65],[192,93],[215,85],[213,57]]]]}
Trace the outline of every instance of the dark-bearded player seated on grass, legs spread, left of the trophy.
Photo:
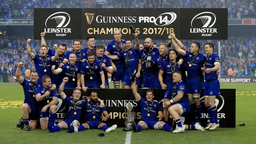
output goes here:
{"type": "Polygon", "coordinates": [[[100,107],[100,103],[98,102],[98,94],[95,91],[90,93],[91,101],[86,105],[86,115],[87,115],[87,122],[83,123],[81,126],[71,126],[67,132],[77,132],[83,131],[85,129],[102,129],[105,132],[111,132],[116,129],[117,125],[113,125],[112,127],[108,127],[106,121],[109,119],[109,114],[106,110],[106,107],[100,107]],[[104,117],[101,119],[100,115],[103,113],[104,117]]]}

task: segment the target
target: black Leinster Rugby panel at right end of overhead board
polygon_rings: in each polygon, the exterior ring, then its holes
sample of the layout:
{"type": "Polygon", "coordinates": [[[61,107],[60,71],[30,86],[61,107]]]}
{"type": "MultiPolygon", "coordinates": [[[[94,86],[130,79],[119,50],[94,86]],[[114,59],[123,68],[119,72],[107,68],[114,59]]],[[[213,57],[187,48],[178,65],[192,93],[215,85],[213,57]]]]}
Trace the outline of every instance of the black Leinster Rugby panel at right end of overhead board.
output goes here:
{"type": "Polygon", "coordinates": [[[181,39],[228,39],[227,9],[180,10],[181,39]]]}

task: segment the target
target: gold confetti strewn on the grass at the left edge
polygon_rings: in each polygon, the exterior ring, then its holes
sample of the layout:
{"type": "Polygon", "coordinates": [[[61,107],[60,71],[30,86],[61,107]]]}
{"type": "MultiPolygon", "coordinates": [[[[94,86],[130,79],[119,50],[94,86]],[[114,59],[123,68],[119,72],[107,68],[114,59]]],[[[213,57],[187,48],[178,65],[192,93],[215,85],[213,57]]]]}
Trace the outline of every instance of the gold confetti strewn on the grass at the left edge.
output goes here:
{"type": "Polygon", "coordinates": [[[13,101],[13,99],[0,99],[0,108],[7,109],[7,108],[20,108],[24,100],[20,101],[13,101]]]}

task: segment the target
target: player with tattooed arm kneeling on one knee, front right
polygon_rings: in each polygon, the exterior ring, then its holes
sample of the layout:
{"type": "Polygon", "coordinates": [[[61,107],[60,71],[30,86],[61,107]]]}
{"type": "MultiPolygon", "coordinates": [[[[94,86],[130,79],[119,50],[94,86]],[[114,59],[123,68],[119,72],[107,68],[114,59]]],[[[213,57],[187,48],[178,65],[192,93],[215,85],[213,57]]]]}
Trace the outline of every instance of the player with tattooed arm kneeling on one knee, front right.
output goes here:
{"type": "Polygon", "coordinates": [[[173,83],[175,86],[172,90],[172,99],[165,102],[166,106],[169,106],[168,111],[176,122],[176,130],[172,131],[173,133],[183,133],[185,130],[201,130],[204,131],[204,128],[196,123],[195,125],[182,125],[185,121],[185,116],[190,111],[190,105],[188,101],[188,91],[185,83],[181,80],[181,73],[176,71],[172,75],[173,83]]]}

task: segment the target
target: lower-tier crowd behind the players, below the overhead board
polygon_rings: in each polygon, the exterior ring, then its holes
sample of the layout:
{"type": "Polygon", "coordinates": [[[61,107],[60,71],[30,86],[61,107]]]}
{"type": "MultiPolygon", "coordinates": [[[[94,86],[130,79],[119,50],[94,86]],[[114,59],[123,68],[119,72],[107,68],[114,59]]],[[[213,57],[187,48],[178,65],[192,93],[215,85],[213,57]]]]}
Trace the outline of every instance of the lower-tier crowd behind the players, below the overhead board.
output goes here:
{"type": "MultiPolygon", "coordinates": [[[[110,40],[96,40],[99,45],[107,46],[110,40]]],[[[167,40],[153,40],[153,43],[159,46],[161,42],[166,43],[167,40]]],[[[140,42],[142,42],[140,40],[140,42]]],[[[189,48],[193,40],[184,40],[184,46],[189,48]]],[[[198,41],[200,44],[206,43],[206,40],[198,41]]],[[[256,53],[255,37],[229,37],[228,40],[221,41],[221,76],[228,75],[228,69],[233,70],[233,76],[255,76],[255,53],[256,53]]],[[[72,40],[48,40],[47,45],[53,47],[53,44],[65,43],[67,48],[72,48],[72,40]]],[[[215,52],[218,48],[218,41],[213,41],[216,45],[215,52]]],[[[40,40],[35,40],[31,44],[32,51],[36,54],[40,52],[40,40]]],[[[82,47],[87,47],[86,40],[81,40],[82,47]]],[[[205,55],[203,48],[200,53],[205,55]]],[[[15,76],[15,70],[18,63],[24,62],[21,74],[25,75],[26,70],[35,71],[33,61],[28,57],[26,52],[26,38],[17,37],[0,37],[0,75],[3,75],[4,68],[8,70],[9,76],[15,76]]]]}

